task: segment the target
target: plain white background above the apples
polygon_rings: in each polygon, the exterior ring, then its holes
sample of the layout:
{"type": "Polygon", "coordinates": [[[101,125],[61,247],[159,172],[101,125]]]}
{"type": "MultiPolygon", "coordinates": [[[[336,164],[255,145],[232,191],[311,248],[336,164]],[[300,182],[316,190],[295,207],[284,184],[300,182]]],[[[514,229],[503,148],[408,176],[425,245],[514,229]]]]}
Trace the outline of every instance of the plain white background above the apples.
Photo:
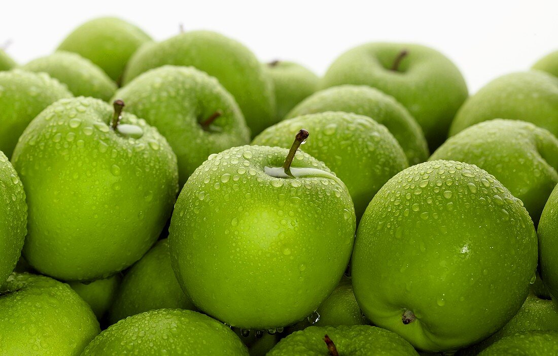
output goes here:
{"type": "Polygon", "coordinates": [[[136,23],[156,40],[177,34],[180,23],[186,31],[219,31],[262,61],[294,60],[320,75],[363,42],[419,42],[449,56],[472,93],[558,49],[558,0],[4,0],[0,45],[11,40],[8,53],[25,63],[49,54],[80,23],[106,15],[136,23]]]}

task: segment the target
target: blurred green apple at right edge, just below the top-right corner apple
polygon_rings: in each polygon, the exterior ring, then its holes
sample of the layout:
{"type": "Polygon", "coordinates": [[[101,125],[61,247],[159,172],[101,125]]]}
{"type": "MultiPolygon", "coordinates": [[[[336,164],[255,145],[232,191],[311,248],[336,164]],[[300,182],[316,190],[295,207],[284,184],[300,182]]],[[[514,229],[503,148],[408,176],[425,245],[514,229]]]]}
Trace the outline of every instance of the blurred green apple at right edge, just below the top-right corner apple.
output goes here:
{"type": "Polygon", "coordinates": [[[493,118],[532,122],[558,136],[558,78],[531,70],[492,80],[459,109],[450,135],[493,118]]]}

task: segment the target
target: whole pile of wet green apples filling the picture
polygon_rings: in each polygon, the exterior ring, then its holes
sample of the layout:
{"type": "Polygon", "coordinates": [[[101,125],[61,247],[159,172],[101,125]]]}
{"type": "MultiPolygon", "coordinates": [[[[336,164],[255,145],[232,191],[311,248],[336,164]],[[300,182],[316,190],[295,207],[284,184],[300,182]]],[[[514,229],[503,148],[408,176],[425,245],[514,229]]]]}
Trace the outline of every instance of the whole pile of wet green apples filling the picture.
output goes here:
{"type": "Polygon", "coordinates": [[[0,355],[558,354],[558,51],[469,96],[118,18],[0,50],[0,355]]]}

